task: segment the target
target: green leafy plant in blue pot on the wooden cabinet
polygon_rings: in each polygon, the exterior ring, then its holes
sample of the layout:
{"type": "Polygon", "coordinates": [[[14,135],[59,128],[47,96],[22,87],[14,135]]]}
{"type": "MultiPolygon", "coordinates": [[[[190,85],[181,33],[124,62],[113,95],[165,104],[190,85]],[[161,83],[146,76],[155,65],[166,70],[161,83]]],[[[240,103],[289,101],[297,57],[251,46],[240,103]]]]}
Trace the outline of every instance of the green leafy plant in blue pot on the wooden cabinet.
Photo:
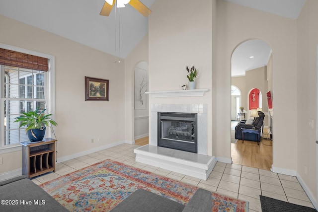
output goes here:
{"type": "Polygon", "coordinates": [[[51,125],[57,126],[57,123],[50,118],[52,114],[45,114],[46,109],[39,112],[35,111],[22,112],[23,115],[16,117],[14,122],[21,122],[20,127],[26,126],[26,133],[31,142],[42,141],[45,135],[46,127],[51,125]]]}

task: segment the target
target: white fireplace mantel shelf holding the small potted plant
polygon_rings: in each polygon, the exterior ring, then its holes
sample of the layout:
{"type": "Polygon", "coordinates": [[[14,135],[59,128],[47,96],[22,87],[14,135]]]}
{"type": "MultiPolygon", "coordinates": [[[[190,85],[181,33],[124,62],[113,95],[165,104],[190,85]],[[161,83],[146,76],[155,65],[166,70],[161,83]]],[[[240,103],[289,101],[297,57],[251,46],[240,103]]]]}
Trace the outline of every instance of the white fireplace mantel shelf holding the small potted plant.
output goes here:
{"type": "Polygon", "coordinates": [[[203,96],[209,89],[193,89],[193,90],[167,90],[167,91],[148,91],[146,94],[155,98],[159,97],[182,97],[182,96],[203,96]]]}

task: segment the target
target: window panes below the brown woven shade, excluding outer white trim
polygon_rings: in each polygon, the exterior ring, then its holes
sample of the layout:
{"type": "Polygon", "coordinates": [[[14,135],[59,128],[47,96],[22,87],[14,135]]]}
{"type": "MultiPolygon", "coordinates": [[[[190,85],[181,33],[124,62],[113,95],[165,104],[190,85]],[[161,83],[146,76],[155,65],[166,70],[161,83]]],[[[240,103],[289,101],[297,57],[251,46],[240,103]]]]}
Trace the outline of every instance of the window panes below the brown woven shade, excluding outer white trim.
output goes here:
{"type": "Polygon", "coordinates": [[[22,112],[29,110],[45,109],[44,90],[46,77],[45,71],[3,66],[1,73],[5,76],[4,96],[4,144],[28,141],[25,128],[19,129],[19,123],[14,123],[14,118],[22,112]]]}

